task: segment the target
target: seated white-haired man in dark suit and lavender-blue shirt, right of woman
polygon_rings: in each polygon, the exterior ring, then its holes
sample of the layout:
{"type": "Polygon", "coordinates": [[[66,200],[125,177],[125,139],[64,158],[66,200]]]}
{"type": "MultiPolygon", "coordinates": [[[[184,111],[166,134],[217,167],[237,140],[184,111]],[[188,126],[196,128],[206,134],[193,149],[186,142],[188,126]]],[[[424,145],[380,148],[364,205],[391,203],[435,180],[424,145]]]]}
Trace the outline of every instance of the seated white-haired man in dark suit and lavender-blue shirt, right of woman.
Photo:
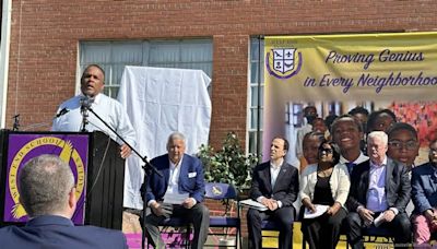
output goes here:
{"type": "Polygon", "coordinates": [[[367,137],[369,161],[355,166],[351,176],[345,224],[352,248],[364,248],[363,227],[380,226],[394,232],[394,246],[411,241],[405,206],[411,185],[406,167],[386,155],[388,137],[383,131],[367,137]]]}

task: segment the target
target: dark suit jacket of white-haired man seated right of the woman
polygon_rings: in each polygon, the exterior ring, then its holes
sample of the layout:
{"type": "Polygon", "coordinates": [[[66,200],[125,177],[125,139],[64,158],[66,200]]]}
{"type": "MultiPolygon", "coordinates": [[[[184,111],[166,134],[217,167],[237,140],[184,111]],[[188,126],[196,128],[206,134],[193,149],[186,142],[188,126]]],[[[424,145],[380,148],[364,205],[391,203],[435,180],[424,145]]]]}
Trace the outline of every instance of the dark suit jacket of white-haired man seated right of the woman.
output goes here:
{"type": "MultiPolygon", "coordinates": [[[[369,159],[365,161],[352,170],[351,190],[346,204],[350,212],[356,212],[359,205],[366,206],[370,175],[369,162],[369,159]]],[[[403,164],[390,157],[387,158],[385,189],[388,208],[395,208],[400,213],[405,212],[411,194],[409,171],[403,164]]]]}

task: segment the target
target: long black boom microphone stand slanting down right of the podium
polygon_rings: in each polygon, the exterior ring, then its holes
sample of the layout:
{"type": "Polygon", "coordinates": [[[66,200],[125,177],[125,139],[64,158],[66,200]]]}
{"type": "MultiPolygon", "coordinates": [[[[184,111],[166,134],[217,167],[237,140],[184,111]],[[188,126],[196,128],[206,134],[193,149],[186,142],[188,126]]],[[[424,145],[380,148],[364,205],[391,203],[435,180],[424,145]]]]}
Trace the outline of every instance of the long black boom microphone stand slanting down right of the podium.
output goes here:
{"type": "MultiPolygon", "coordinates": [[[[142,218],[140,217],[141,221],[141,228],[142,228],[142,235],[141,235],[141,248],[144,249],[144,244],[145,244],[145,214],[146,214],[146,209],[147,209],[147,203],[145,202],[145,191],[146,191],[146,186],[147,186],[147,178],[149,176],[153,173],[155,173],[156,175],[158,175],[160,177],[163,177],[163,174],[161,174],[155,166],[153,166],[150,162],[147,162],[147,157],[141,156],[140,153],[132,147],[132,145],[130,145],[128,142],[126,142],[126,140],[123,138],[121,138],[120,134],[117,133],[116,130],[114,130],[105,120],[103,120],[92,108],[91,106],[84,106],[84,109],[90,110],[90,112],[92,112],[98,120],[101,120],[110,131],[113,131],[117,138],[119,138],[126,145],[128,145],[133,153],[135,153],[135,155],[138,155],[141,161],[144,163],[144,165],[142,166],[143,170],[144,170],[144,180],[143,180],[143,185],[141,187],[141,195],[143,198],[143,210],[142,210],[142,218]]],[[[86,115],[87,117],[87,115],[86,115]]],[[[85,119],[85,117],[84,117],[85,119]]],[[[85,127],[85,124],[84,124],[85,127]]]]}

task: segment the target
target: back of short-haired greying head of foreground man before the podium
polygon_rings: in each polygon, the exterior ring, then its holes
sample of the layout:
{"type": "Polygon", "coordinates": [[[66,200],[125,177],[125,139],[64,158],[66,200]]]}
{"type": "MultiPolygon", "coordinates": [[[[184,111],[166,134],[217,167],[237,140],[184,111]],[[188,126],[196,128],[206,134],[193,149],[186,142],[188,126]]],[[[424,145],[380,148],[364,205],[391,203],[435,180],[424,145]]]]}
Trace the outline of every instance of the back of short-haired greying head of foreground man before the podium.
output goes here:
{"type": "Polygon", "coordinates": [[[74,187],[70,166],[56,155],[39,155],[20,170],[21,202],[31,217],[62,212],[74,187]]]}

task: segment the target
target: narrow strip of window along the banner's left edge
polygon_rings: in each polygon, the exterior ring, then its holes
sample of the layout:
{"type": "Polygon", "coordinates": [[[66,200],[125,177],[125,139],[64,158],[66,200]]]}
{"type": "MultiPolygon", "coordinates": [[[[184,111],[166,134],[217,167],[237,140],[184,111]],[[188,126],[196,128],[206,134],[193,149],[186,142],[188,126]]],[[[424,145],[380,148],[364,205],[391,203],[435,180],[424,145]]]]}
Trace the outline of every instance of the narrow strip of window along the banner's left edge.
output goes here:
{"type": "Polygon", "coordinates": [[[249,56],[249,95],[248,95],[248,151],[261,155],[262,152],[262,112],[264,95],[264,40],[250,40],[249,56]]]}

